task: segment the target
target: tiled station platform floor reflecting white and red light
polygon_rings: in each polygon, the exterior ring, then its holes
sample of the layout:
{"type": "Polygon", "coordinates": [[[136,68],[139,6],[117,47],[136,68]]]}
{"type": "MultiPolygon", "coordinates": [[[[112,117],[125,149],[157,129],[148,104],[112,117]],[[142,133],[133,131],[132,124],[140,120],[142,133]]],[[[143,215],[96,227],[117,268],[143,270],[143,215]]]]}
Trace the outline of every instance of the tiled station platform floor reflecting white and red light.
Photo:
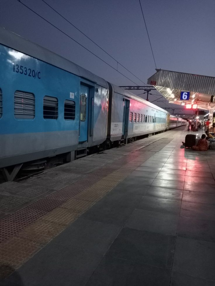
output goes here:
{"type": "Polygon", "coordinates": [[[214,286],[215,150],[188,133],[0,184],[0,285],[214,286]]]}

